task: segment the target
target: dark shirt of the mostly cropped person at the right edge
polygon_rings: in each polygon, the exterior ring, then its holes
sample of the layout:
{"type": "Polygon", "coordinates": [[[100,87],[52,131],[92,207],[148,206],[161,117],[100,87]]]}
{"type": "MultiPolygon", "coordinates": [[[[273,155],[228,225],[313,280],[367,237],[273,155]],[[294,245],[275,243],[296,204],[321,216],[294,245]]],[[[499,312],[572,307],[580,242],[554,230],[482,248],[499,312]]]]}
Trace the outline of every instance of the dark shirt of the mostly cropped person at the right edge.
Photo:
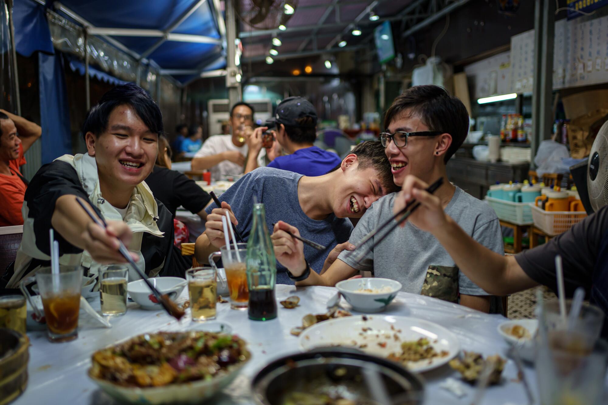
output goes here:
{"type": "Polygon", "coordinates": [[[598,263],[608,238],[608,206],[587,216],[570,230],[529,251],[515,256],[523,271],[535,282],[557,291],[555,256],[561,255],[564,266],[564,287],[568,297],[576,288],[585,289],[590,296],[594,272],[608,272],[608,263],[598,263]]]}

